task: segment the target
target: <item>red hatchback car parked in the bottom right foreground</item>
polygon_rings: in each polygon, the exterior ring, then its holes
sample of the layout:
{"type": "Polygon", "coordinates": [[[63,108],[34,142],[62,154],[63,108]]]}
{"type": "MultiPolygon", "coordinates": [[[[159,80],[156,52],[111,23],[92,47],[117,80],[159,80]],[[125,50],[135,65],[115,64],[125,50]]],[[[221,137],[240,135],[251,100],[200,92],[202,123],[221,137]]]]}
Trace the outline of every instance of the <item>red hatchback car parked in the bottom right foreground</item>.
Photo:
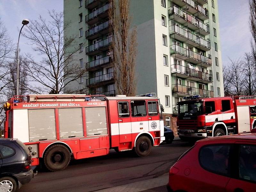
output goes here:
{"type": "Polygon", "coordinates": [[[255,192],[256,133],[197,141],[171,167],[168,192],[255,192]]]}

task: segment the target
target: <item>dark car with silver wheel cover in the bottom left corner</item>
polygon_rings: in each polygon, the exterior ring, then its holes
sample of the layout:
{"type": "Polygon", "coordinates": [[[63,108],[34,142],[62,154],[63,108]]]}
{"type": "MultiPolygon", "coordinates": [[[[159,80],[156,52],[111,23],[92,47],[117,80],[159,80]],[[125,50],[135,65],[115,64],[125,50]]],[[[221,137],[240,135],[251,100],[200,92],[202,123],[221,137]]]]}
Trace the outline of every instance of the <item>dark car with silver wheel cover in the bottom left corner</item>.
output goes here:
{"type": "Polygon", "coordinates": [[[33,178],[31,154],[18,139],[0,139],[0,191],[14,192],[33,178]]]}

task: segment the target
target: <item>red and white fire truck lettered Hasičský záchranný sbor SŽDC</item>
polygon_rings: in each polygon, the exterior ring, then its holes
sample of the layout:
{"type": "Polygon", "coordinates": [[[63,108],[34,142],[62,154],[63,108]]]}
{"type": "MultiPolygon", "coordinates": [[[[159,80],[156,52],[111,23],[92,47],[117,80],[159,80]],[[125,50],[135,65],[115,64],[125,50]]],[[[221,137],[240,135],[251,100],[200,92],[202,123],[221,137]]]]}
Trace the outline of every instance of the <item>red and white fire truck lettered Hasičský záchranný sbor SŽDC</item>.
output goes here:
{"type": "Polygon", "coordinates": [[[134,149],[138,156],[148,156],[164,140],[162,106],[156,97],[15,96],[4,109],[4,137],[24,142],[32,165],[42,162],[50,171],[65,169],[71,156],[102,156],[109,149],[134,149]]]}

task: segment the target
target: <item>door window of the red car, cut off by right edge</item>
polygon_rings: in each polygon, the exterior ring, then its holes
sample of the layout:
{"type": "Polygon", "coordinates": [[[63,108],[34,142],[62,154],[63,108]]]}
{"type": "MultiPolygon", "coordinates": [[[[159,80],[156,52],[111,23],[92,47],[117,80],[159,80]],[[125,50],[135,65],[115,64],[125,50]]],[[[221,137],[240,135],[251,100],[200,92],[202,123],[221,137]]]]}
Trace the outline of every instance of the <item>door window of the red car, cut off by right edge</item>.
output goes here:
{"type": "Polygon", "coordinates": [[[240,179],[256,181],[256,146],[241,145],[239,152],[240,179]]]}

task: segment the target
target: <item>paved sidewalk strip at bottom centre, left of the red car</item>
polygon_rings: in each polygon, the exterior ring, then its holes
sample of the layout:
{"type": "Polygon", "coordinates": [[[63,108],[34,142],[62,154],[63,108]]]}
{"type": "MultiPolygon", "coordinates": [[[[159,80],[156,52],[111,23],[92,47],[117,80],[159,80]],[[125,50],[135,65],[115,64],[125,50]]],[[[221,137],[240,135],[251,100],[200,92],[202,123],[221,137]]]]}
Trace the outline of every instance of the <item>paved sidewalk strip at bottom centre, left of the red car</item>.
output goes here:
{"type": "Polygon", "coordinates": [[[139,192],[145,191],[151,188],[157,188],[160,186],[165,186],[168,183],[169,175],[157,177],[154,179],[138,181],[134,183],[129,183],[125,185],[120,185],[116,187],[106,188],[98,190],[97,192],[139,192]]]}

